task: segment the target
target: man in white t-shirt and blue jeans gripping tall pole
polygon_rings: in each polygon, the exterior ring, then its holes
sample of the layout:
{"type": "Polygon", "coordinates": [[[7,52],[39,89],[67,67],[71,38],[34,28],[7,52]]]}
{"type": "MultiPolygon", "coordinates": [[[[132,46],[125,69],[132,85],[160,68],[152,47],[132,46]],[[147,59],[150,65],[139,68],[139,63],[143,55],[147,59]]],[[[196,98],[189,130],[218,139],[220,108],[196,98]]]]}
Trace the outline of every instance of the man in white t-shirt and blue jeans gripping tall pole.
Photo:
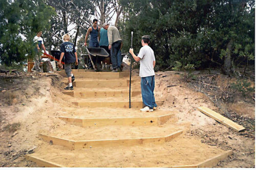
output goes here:
{"type": "Polygon", "coordinates": [[[155,88],[155,71],[154,67],[156,64],[156,59],[154,51],[148,43],[150,42],[150,36],[144,35],[141,40],[142,47],[138,56],[133,52],[133,48],[130,48],[130,53],[132,54],[135,61],[140,61],[140,77],[141,77],[141,94],[142,100],[145,107],[140,109],[141,111],[150,111],[156,109],[157,104],[154,96],[155,88]]]}

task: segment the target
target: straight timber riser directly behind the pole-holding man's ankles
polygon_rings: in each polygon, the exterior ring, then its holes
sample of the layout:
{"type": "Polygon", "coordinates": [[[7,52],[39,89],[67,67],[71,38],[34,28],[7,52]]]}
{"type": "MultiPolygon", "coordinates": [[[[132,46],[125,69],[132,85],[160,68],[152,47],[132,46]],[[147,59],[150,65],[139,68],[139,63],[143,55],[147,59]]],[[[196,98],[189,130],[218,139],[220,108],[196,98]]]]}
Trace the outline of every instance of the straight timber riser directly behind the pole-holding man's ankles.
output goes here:
{"type": "MultiPolygon", "coordinates": [[[[129,108],[129,102],[72,102],[79,107],[111,107],[111,108],[129,108]]],[[[162,106],[162,101],[156,101],[158,106],[162,106]]],[[[142,108],[143,102],[131,102],[131,108],[142,108]]]]}

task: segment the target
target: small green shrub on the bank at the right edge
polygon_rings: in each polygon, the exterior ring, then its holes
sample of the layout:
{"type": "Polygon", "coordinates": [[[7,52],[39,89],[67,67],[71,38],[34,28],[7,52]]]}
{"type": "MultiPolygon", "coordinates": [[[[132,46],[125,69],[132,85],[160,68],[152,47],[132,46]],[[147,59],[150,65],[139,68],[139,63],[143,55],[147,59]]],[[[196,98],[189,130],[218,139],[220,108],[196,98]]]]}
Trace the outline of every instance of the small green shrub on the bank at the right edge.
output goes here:
{"type": "Polygon", "coordinates": [[[243,96],[246,96],[247,93],[253,92],[255,87],[251,87],[251,83],[248,80],[243,79],[242,81],[232,83],[231,88],[242,92],[243,96]]]}

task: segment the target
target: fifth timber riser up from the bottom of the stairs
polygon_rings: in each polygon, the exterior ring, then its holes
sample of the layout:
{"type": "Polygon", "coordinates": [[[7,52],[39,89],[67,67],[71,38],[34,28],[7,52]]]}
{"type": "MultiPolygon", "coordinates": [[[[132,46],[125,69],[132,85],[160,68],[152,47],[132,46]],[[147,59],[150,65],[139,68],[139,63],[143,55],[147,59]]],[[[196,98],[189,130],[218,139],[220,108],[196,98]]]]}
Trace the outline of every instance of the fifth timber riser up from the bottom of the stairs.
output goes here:
{"type": "MultiPolygon", "coordinates": [[[[63,94],[71,95],[75,98],[110,98],[110,97],[122,97],[128,98],[129,91],[63,91],[63,94]]],[[[132,91],[131,96],[140,95],[141,91],[132,91]]]]}

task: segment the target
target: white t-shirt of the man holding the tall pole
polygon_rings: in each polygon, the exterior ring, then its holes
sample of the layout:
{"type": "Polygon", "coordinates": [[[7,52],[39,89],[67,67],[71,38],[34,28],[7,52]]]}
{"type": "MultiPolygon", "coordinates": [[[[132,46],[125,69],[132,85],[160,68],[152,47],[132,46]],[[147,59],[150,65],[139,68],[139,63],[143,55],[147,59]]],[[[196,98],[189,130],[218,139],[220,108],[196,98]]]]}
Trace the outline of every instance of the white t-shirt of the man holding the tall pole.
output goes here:
{"type": "Polygon", "coordinates": [[[140,77],[155,76],[153,61],[156,61],[154,51],[148,45],[140,48],[140,77]]]}

